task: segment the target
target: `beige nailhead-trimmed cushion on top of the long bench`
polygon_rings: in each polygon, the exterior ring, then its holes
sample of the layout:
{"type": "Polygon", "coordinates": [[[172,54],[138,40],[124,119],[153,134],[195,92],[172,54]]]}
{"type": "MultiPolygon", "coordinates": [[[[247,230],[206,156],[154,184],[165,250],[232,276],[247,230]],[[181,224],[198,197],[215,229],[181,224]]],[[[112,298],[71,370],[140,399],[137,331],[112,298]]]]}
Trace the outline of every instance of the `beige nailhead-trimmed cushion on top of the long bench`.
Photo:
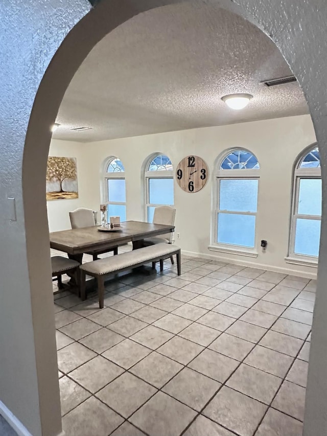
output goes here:
{"type": "Polygon", "coordinates": [[[138,248],[136,250],[127,251],[117,256],[112,256],[105,259],[95,260],[80,265],[80,268],[86,272],[97,274],[108,274],[109,272],[118,271],[122,268],[145,263],[160,256],[169,256],[178,251],[180,247],[171,244],[155,244],[148,247],[138,248]]]}

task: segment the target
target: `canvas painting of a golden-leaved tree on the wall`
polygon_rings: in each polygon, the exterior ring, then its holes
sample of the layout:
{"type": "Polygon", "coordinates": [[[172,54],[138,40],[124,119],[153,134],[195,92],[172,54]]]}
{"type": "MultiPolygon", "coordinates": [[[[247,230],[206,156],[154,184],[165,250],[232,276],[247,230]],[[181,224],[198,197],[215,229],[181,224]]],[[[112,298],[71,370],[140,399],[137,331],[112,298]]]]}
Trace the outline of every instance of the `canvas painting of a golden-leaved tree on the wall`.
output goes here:
{"type": "Polygon", "coordinates": [[[46,199],[78,198],[75,157],[48,157],[46,168],[46,199]]]}

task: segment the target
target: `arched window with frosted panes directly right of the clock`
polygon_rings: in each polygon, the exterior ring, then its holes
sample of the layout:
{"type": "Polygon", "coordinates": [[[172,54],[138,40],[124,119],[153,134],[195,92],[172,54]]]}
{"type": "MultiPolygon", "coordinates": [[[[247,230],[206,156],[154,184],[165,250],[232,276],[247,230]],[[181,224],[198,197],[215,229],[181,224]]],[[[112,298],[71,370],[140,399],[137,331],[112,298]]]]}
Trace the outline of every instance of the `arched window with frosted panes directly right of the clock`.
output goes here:
{"type": "Polygon", "coordinates": [[[247,150],[233,150],[220,161],[216,178],[214,244],[254,248],[260,166],[247,150]]]}

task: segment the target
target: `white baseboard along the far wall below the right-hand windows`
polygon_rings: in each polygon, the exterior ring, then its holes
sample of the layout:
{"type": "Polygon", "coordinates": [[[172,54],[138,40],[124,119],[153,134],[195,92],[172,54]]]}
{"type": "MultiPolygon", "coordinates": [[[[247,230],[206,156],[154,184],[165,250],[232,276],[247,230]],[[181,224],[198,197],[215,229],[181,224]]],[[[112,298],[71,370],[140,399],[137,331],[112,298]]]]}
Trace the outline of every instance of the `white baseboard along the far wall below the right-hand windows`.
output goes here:
{"type": "Polygon", "coordinates": [[[241,266],[249,266],[251,268],[260,268],[260,269],[266,269],[267,271],[273,271],[273,272],[282,272],[284,274],[292,274],[293,276],[298,277],[305,277],[308,279],[316,279],[317,278],[317,272],[303,272],[301,270],[290,268],[290,267],[280,267],[280,266],[271,266],[271,265],[265,265],[258,262],[251,262],[246,260],[235,260],[232,258],[228,258],[226,256],[214,256],[211,254],[203,254],[203,253],[194,253],[193,251],[181,251],[182,255],[190,256],[190,257],[196,257],[196,258],[202,258],[202,259],[210,259],[210,260],[216,260],[219,262],[226,262],[226,263],[234,263],[235,265],[241,265],[241,266]]]}

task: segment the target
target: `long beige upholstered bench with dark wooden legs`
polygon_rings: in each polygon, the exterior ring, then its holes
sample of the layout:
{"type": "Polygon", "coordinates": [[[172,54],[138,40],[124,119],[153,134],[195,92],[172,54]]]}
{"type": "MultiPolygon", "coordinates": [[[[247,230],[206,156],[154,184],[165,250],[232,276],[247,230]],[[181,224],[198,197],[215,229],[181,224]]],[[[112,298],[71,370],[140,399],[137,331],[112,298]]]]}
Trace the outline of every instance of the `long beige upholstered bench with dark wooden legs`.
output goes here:
{"type": "Polygon", "coordinates": [[[80,265],[82,300],[86,299],[86,273],[98,280],[99,307],[103,309],[104,279],[109,276],[109,274],[115,274],[119,271],[145,265],[149,262],[152,262],[152,267],[155,267],[156,261],[160,261],[160,271],[162,271],[164,269],[164,260],[173,255],[176,255],[177,273],[178,276],[180,276],[180,248],[177,245],[165,243],[150,245],[148,247],[127,251],[127,253],[122,253],[117,256],[84,263],[80,265]]]}

